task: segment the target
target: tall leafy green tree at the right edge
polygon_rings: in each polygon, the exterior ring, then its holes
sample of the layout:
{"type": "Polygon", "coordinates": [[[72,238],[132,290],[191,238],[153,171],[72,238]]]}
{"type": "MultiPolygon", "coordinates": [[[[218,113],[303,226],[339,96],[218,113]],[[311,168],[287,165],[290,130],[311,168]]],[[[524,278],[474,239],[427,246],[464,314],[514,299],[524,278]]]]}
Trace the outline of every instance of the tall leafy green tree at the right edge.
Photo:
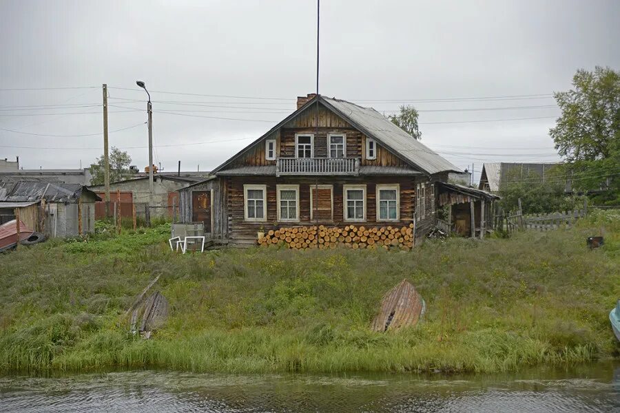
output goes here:
{"type": "Polygon", "coordinates": [[[577,190],[607,189],[603,202],[620,201],[620,72],[578,70],[573,89],[554,94],[561,116],[549,134],[568,162],[577,190]]]}

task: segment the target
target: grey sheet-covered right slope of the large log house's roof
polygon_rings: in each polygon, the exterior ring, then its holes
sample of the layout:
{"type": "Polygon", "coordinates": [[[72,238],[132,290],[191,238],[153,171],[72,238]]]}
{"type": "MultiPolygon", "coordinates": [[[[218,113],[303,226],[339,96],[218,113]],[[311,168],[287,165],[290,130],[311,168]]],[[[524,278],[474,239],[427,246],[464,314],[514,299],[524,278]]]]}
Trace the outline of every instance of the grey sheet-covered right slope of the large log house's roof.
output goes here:
{"type": "Polygon", "coordinates": [[[394,125],[391,120],[371,107],[362,107],[355,103],[335,98],[320,96],[321,100],[331,105],[335,112],[363,131],[375,138],[393,152],[408,160],[426,173],[433,175],[440,172],[460,172],[451,162],[442,158],[435,151],[422,144],[419,140],[394,125]]]}

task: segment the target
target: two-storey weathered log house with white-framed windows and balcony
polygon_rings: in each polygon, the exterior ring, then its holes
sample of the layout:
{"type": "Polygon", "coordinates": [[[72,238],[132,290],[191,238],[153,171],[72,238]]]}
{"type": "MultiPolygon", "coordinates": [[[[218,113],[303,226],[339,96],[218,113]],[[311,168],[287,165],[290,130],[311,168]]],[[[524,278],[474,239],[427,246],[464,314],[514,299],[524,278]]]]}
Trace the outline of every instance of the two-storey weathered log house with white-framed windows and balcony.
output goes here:
{"type": "Polygon", "coordinates": [[[382,114],[309,94],[298,109],[179,191],[181,222],[230,244],[255,244],[282,227],[435,223],[437,183],[457,167],[382,114]]]}

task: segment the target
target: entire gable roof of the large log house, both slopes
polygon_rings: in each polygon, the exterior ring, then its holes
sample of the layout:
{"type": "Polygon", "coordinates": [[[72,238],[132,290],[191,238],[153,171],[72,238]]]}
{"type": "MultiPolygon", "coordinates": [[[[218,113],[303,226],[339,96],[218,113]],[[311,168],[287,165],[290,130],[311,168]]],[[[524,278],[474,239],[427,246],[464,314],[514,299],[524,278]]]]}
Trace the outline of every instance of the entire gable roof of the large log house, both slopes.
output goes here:
{"type": "Polygon", "coordinates": [[[347,120],[348,123],[360,130],[366,136],[377,140],[377,142],[386,147],[386,149],[389,149],[402,158],[402,160],[409,163],[413,167],[417,167],[424,173],[433,175],[440,172],[460,172],[460,169],[452,165],[451,162],[448,162],[448,160],[442,158],[442,156],[437,154],[435,151],[432,151],[423,145],[419,140],[407,134],[406,131],[394,125],[391,120],[377,112],[375,109],[355,105],[355,103],[347,102],[347,100],[326,98],[319,95],[315,96],[311,100],[308,100],[305,105],[287,116],[284,120],[278,123],[278,125],[269,129],[266,134],[257,140],[254,140],[254,142],[251,142],[251,144],[247,145],[247,147],[241,151],[238,151],[238,153],[229,158],[229,160],[214,169],[212,173],[217,173],[229,165],[230,162],[238,158],[242,153],[251,147],[254,147],[254,145],[258,142],[273,134],[274,131],[280,129],[280,127],[300,115],[302,112],[305,112],[307,109],[311,108],[317,100],[322,103],[324,107],[327,107],[327,109],[330,109],[344,120],[347,120]]]}

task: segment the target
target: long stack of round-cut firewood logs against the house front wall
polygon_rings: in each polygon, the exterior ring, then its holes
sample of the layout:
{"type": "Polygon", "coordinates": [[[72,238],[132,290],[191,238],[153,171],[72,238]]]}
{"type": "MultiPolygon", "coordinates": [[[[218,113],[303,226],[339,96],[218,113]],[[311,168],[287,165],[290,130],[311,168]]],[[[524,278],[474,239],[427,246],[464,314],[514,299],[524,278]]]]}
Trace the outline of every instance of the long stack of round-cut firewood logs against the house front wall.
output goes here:
{"type": "Polygon", "coordinates": [[[269,246],[284,244],[293,249],[335,248],[344,245],[347,248],[401,248],[413,247],[413,224],[408,226],[381,226],[366,228],[364,226],[292,226],[270,230],[259,238],[258,244],[269,246]]]}

